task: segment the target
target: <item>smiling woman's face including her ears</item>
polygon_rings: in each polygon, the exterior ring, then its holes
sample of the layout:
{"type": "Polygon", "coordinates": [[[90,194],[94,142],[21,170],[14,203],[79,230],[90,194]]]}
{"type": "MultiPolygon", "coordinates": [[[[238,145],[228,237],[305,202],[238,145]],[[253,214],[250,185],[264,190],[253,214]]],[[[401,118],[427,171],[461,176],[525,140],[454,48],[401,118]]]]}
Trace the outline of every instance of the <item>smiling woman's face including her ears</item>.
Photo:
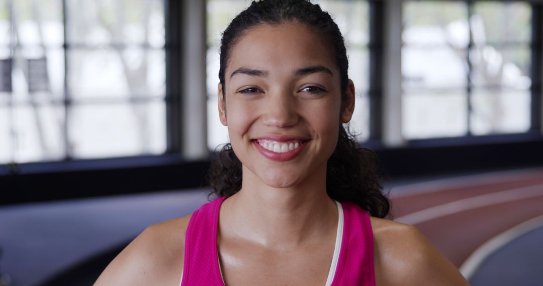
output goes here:
{"type": "Polygon", "coordinates": [[[339,122],[351,118],[354,88],[350,81],[342,105],[339,69],[322,36],[297,22],[245,31],[230,49],[225,87],[220,120],[244,178],[289,187],[325,175],[339,122]]]}

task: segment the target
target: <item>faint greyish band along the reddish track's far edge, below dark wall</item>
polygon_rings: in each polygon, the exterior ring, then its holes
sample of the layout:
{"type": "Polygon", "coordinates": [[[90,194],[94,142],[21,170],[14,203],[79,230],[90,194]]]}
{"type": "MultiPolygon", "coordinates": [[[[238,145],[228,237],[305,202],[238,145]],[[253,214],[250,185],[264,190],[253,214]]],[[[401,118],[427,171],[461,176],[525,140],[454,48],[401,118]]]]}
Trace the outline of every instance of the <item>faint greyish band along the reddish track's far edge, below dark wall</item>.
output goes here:
{"type": "Polygon", "coordinates": [[[464,175],[454,178],[437,179],[431,181],[425,181],[422,183],[414,183],[403,186],[392,187],[390,191],[390,198],[397,199],[403,197],[414,196],[417,194],[433,193],[445,191],[446,188],[463,188],[471,187],[473,185],[489,185],[504,183],[512,179],[518,179],[518,177],[526,178],[531,177],[536,173],[543,172],[543,168],[529,168],[523,170],[492,172],[475,175],[464,175]],[[444,187],[443,185],[449,185],[444,187]]]}

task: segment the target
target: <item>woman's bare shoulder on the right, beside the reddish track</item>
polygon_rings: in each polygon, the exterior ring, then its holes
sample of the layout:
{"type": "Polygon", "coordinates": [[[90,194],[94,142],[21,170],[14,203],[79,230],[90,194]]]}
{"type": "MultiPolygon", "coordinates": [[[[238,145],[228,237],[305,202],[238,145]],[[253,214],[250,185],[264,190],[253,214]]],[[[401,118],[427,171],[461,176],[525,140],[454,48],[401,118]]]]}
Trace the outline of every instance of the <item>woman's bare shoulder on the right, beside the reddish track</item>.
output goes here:
{"type": "Polygon", "coordinates": [[[469,285],[415,226],[371,218],[375,278],[382,285],[469,285]]]}

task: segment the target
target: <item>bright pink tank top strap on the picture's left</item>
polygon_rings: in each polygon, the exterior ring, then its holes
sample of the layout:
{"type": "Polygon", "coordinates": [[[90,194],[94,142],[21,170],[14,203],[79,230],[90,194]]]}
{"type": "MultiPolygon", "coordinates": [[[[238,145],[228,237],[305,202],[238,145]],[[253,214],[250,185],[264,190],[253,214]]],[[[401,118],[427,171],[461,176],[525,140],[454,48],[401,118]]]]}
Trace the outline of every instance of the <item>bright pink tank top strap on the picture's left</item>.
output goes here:
{"type": "Polygon", "coordinates": [[[181,286],[224,285],[217,257],[220,205],[217,198],[192,213],[185,234],[185,262],[181,286]]]}

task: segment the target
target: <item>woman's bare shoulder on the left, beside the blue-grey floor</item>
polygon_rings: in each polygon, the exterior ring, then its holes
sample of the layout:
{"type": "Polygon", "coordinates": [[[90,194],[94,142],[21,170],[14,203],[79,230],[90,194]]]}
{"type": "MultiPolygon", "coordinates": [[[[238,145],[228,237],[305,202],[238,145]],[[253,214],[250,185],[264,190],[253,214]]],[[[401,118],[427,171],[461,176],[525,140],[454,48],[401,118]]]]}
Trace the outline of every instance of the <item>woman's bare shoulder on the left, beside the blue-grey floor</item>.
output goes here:
{"type": "Polygon", "coordinates": [[[179,283],[190,218],[189,215],[147,227],[111,261],[94,285],[179,283]]]}

